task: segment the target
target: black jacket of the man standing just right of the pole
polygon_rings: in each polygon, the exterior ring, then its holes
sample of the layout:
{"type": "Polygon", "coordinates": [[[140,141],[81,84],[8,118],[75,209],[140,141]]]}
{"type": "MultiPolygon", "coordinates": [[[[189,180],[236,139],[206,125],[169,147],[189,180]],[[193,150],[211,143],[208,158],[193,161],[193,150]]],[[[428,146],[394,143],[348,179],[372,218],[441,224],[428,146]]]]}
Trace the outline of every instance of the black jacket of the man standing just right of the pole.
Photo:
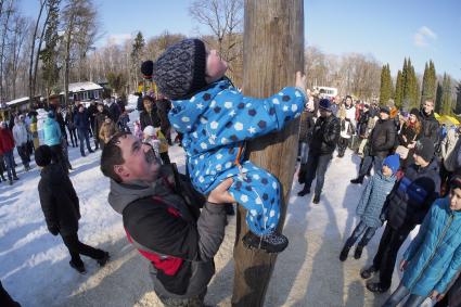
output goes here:
{"type": "Polygon", "coordinates": [[[309,154],[332,154],[340,139],[341,125],[333,114],[329,117],[320,116],[312,129],[312,139],[309,144],[309,154]]]}

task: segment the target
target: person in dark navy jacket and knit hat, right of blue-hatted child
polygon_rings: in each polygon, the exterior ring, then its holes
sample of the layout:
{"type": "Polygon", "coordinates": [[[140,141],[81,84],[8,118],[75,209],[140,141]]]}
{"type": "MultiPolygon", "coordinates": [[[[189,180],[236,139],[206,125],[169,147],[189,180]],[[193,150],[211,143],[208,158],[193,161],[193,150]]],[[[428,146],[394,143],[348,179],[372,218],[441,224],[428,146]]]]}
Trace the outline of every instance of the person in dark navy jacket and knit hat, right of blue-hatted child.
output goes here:
{"type": "Polygon", "coordinates": [[[371,292],[383,293],[390,287],[397,253],[408,234],[421,225],[432,203],[440,193],[438,161],[434,155],[434,143],[428,138],[417,142],[410,165],[405,176],[396,183],[386,199],[383,212],[387,220],[373,264],[360,272],[368,279],[380,272],[376,282],[368,282],[371,292]]]}

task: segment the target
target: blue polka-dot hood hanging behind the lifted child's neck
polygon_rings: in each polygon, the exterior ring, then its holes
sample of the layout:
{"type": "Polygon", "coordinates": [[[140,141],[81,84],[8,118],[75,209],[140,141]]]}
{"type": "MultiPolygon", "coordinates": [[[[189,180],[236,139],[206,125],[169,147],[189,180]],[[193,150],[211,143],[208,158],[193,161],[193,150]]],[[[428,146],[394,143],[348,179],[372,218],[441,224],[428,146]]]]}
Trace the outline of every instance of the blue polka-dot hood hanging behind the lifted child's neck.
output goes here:
{"type": "Polygon", "coordinates": [[[206,120],[206,118],[202,117],[202,114],[205,114],[209,107],[215,107],[215,97],[231,87],[230,80],[221,79],[206,88],[206,92],[204,89],[190,99],[171,101],[172,108],[168,113],[169,121],[181,133],[191,131],[195,123],[206,120]]]}

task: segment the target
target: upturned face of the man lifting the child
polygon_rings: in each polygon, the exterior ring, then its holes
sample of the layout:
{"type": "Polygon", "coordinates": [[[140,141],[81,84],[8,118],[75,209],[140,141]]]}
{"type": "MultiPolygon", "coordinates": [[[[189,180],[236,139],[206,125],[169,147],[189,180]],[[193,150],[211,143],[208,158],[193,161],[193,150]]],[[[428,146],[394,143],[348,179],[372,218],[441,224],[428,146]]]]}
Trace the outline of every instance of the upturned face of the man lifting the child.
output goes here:
{"type": "Polygon", "coordinates": [[[131,135],[119,139],[118,146],[125,163],[115,166],[115,171],[124,182],[135,180],[153,182],[157,179],[161,165],[154,151],[149,145],[142,144],[140,140],[131,135]]]}

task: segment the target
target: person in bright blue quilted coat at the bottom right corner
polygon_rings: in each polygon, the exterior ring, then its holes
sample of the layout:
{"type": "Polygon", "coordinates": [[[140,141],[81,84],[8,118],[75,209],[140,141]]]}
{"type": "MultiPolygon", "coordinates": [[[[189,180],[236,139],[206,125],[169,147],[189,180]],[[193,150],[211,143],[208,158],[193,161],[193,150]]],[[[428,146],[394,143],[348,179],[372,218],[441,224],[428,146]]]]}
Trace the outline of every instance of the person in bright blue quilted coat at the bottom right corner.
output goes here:
{"type": "Polygon", "coordinates": [[[450,182],[450,193],[434,202],[417,238],[404,254],[400,285],[384,306],[420,306],[425,298],[440,299],[461,269],[461,177],[450,182]]]}

